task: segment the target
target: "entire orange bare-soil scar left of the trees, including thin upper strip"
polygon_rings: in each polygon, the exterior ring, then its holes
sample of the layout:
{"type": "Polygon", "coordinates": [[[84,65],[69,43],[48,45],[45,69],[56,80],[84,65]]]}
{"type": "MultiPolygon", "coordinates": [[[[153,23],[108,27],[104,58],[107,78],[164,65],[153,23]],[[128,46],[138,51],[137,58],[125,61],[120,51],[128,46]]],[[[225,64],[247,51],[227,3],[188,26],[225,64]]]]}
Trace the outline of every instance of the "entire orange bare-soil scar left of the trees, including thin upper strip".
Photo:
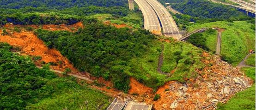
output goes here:
{"type": "MultiPolygon", "coordinates": [[[[99,84],[103,84],[101,87],[92,85],[92,88],[96,88],[99,90],[104,91],[106,94],[111,96],[117,96],[117,93],[121,91],[112,88],[113,84],[111,81],[105,81],[102,77],[96,78],[91,77],[89,73],[86,72],[79,72],[75,67],[73,67],[72,63],[56,49],[48,49],[48,47],[44,44],[44,42],[37,38],[37,36],[32,31],[26,31],[23,29],[24,26],[22,25],[12,25],[6,24],[4,28],[9,33],[8,35],[1,35],[0,34],[0,42],[6,42],[12,46],[21,48],[21,55],[29,55],[29,56],[41,56],[41,60],[35,61],[37,66],[42,66],[41,62],[44,61],[45,63],[54,62],[57,66],[50,66],[51,69],[64,71],[65,68],[70,68],[73,74],[77,74],[83,77],[91,78],[92,80],[97,80],[99,84]],[[14,32],[12,29],[14,27],[18,27],[22,29],[22,32],[14,32]],[[61,63],[59,63],[61,62],[61,63]],[[108,89],[107,87],[111,87],[108,89]]],[[[39,25],[26,25],[25,27],[33,27],[39,28],[39,25]]],[[[45,29],[50,30],[66,30],[71,31],[71,28],[82,28],[82,22],[73,24],[73,25],[44,25],[45,29]],[[62,28],[59,28],[62,27],[62,28]]],[[[0,29],[0,33],[2,30],[0,29]]],[[[60,75],[61,76],[61,75],[60,75]]]]}

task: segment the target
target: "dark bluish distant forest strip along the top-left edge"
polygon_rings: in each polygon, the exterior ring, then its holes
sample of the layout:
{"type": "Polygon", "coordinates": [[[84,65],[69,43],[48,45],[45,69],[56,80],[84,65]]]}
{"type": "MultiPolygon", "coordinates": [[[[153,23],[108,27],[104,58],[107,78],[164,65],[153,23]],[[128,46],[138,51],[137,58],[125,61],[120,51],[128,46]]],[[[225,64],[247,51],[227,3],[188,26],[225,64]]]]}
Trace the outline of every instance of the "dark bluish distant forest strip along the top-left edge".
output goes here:
{"type": "Polygon", "coordinates": [[[87,6],[126,6],[128,0],[1,0],[0,7],[19,9],[27,6],[48,7],[49,9],[64,9],[87,6]]]}

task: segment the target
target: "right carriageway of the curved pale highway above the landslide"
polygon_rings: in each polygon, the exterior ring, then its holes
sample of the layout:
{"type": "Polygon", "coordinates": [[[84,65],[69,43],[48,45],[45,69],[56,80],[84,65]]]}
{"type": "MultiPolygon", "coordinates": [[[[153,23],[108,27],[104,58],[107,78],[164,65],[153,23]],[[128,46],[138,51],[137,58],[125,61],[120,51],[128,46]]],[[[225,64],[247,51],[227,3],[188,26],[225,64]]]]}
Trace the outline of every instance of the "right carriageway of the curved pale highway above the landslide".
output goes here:
{"type": "MultiPolygon", "coordinates": [[[[141,0],[142,1],[142,0],[141,0]]],[[[176,22],[172,18],[169,11],[157,0],[145,0],[156,12],[158,15],[158,18],[160,20],[160,23],[163,28],[164,35],[166,37],[172,37],[175,39],[182,38],[181,34],[179,33],[179,29],[177,27],[176,22]]]]}

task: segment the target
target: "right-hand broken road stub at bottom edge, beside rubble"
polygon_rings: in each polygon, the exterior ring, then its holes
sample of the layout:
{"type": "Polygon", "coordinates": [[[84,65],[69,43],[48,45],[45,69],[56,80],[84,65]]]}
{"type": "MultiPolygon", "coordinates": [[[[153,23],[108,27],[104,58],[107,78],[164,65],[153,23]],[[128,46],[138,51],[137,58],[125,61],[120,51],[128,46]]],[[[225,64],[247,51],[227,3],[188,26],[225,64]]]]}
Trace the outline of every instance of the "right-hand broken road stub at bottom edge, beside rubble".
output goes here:
{"type": "Polygon", "coordinates": [[[128,101],[124,110],[151,110],[151,108],[152,108],[152,105],[146,105],[146,103],[128,101]]]}

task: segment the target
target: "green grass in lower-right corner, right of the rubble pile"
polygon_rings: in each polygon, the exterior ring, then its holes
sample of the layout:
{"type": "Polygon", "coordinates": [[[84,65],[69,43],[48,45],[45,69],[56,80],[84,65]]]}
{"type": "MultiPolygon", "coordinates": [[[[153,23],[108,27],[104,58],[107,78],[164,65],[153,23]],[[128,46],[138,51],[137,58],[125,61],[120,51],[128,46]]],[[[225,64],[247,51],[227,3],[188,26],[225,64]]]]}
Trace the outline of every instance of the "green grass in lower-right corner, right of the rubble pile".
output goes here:
{"type": "Polygon", "coordinates": [[[236,93],[226,104],[218,104],[218,110],[255,110],[255,67],[242,69],[246,76],[254,80],[254,84],[236,93]]]}

